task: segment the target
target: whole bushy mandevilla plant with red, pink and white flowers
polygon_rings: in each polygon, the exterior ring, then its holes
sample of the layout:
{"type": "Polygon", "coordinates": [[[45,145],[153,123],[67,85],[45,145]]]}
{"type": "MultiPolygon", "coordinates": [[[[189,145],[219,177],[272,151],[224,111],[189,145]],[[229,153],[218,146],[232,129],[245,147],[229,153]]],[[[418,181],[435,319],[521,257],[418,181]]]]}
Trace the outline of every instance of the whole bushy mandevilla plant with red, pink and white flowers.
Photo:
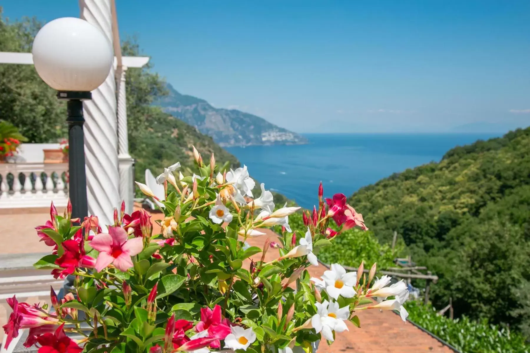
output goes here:
{"type": "Polygon", "coordinates": [[[125,214],[123,203],[105,231],[95,216],[75,225],[81,220],[71,218],[70,204],[63,217],[52,204],[51,220],[37,231],[54,251],[35,267],[51,269],[56,278],[75,276],[75,290],[58,300],[52,289],[53,311],[10,298],[6,345],[19,329],[29,329],[24,344],[39,345],[40,353],[308,352],[321,339],[331,344],[335,334],[348,330],[346,320],[359,326],[356,310],[398,309],[407,316],[403,282],[387,286],[385,276],[369,286],[375,265],[368,277],[363,264],[357,273],[333,264],[322,279],[310,277],[307,267],[318,265],[320,247],[343,230],[366,229],[344,195],[324,201],[321,185],[319,209],[304,216],[306,229],[297,234],[288,216],[299,207],[275,210],[263,184],[252,199],[255,183],[246,167],[226,171],[213,155],[209,165],[195,147],[193,155],[199,174],[179,172],[177,180],[176,163],[157,177],[164,200],[137,183],[163,205],[160,234],[153,234],[147,212],[125,214]],[[341,226],[338,233],[330,233],[331,220],[341,226]],[[267,240],[263,248],[246,242],[275,225],[285,228],[278,241],[267,240]],[[279,256],[266,261],[270,248],[279,256]]]}

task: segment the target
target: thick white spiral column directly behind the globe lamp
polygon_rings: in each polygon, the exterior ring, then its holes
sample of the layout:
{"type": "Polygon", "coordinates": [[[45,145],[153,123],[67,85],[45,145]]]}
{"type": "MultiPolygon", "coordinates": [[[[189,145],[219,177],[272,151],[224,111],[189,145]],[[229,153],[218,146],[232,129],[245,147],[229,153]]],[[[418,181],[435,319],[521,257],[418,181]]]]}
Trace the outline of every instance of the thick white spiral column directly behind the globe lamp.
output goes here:
{"type": "MultiPolygon", "coordinates": [[[[111,0],[79,0],[81,18],[98,27],[112,45],[111,0]]],[[[112,224],[119,207],[118,134],[114,67],[105,82],[83,103],[86,123],[85,158],[89,214],[112,224]]]]}

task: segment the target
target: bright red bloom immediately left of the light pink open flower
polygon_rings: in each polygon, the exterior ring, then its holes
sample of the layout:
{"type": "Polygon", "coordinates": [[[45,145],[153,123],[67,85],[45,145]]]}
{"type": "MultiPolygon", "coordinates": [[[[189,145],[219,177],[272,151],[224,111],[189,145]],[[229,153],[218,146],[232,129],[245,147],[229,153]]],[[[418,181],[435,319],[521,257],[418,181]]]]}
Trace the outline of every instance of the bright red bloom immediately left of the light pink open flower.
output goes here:
{"type": "Polygon", "coordinates": [[[65,278],[67,275],[73,274],[76,267],[93,268],[95,266],[95,259],[85,255],[84,241],[76,241],[69,239],[63,242],[64,254],[55,260],[58,268],[51,271],[55,278],[65,278]]]}

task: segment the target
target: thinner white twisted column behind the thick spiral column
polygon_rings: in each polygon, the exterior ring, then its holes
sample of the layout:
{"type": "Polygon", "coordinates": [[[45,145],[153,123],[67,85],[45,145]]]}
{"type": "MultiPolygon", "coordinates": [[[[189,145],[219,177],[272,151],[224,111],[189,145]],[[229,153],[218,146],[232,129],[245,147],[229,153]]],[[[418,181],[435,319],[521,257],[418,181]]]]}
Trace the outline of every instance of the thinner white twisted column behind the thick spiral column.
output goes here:
{"type": "Polygon", "coordinates": [[[118,85],[118,161],[120,171],[120,197],[125,201],[125,212],[133,212],[133,158],[129,155],[129,137],[127,131],[127,96],[125,86],[126,66],[118,67],[116,82],[118,85]]]}

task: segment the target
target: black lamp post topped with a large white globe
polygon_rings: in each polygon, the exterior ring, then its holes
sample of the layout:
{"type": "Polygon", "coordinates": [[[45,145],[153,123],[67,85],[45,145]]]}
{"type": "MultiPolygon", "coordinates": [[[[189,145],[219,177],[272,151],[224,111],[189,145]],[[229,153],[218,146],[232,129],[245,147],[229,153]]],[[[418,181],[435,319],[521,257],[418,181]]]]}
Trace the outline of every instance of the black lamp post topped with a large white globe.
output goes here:
{"type": "Polygon", "coordinates": [[[67,100],[68,192],[72,217],[88,215],[83,124],[83,101],[109,75],[112,46],[105,34],[75,17],[48,22],[33,41],[33,63],[37,73],[57,97],[67,100]]]}

